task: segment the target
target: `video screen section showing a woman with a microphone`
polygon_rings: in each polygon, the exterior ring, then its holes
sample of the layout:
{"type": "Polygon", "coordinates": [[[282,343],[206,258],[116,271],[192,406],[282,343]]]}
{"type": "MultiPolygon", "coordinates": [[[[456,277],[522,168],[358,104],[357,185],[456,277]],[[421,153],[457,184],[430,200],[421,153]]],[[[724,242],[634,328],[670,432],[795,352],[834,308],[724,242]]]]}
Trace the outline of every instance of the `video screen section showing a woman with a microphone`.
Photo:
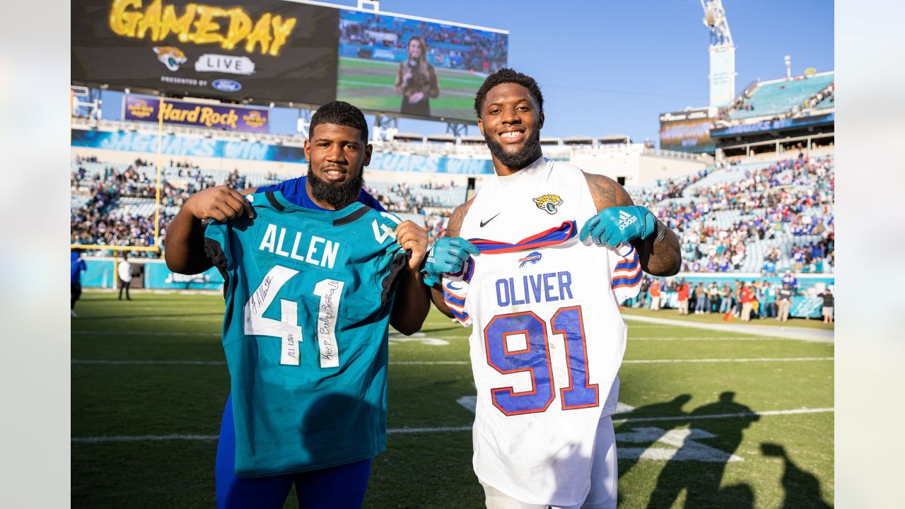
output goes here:
{"type": "Polygon", "coordinates": [[[509,35],[343,9],[337,99],[362,110],[476,121],[474,93],[506,66],[509,35]]]}

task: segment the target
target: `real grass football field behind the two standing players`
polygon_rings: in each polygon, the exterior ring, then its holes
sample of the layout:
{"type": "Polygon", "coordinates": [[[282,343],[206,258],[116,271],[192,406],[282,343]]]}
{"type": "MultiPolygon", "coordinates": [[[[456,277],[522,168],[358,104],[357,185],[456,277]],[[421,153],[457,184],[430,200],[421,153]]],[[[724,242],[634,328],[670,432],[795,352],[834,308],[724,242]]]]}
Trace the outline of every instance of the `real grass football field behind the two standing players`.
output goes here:
{"type": "MultiPolygon", "coordinates": [[[[82,295],[71,322],[73,507],[214,506],[223,309],[214,293],[82,295]]],[[[619,507],[833,504],[832,344],[628,323],[619,507]]],[[[365,506],[482,507],[467,330],[432,311],[421,332],[390,341],[389,436],[365,506]]]]}

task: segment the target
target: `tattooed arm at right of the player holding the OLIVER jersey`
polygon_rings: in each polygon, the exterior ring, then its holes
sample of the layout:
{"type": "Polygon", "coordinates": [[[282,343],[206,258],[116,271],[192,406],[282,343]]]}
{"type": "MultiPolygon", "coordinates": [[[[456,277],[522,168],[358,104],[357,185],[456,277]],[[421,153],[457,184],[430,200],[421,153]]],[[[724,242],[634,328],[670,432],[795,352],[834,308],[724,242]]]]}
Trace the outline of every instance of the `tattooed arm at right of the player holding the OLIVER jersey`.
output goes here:
{"type": "MultiPolygon", "coordinates": [[[[597,212],[610,206],[634,205],[625,188],[612,178],[590,173],[586,173],[585,178],[591,197],[594,197],[597,212]]],[[[659,276],[678,274],[681,269],[679,237],[669,227],[663,225],[660,219],[656,221],[657,235],[651,235],[647,240],[637,239],[632,242],[634,248],[638,250],[641,268],[647,274],[659,276]],[[660,240],[654,241],[658,236],[661,236],[660,240]]]]}

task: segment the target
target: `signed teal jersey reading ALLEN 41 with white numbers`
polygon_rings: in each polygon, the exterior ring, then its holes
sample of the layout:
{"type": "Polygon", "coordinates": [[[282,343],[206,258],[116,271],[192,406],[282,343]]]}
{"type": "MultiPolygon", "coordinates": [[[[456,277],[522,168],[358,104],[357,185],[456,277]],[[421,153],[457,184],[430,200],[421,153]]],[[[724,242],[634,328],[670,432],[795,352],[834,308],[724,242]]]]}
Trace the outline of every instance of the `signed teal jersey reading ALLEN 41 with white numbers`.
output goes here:
{"type": "Polygon", "coordinates": [[[386,449],[386,359],[399,219],[354,203],[248,197],[257,216],[212,222],[224,275],[223,345],[233,389],[235,473],[337,466],[386,449]]]}

